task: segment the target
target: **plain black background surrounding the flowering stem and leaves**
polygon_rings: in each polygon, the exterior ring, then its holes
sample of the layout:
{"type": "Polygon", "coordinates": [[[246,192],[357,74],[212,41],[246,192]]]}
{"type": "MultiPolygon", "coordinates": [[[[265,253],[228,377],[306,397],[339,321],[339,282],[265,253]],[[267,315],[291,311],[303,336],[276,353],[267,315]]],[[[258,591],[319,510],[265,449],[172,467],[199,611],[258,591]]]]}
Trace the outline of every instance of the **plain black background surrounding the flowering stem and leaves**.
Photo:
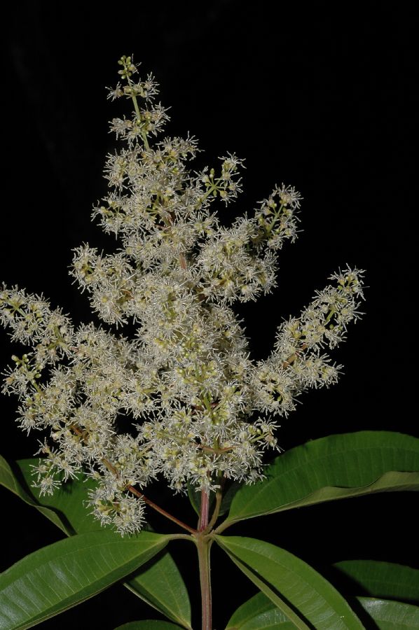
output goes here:
{"type": "MultiPolygon", "coordinates": [[[[268,354],[281,318],[298,314],[331,272],[346,263],[366,270],[365,316],[334,353],[345,373],[334,388],[302,398],[282,422],[281,446],[362,429],[419,435],[413,5],[216,0],[105,8],[32,0],[9,6],[4,31],[1,280],[43,293],[76,322],[90,320],[67,267],[83,241],[114,246],[90,209],[106,193],[104,157],[116,146],[107,121],[123,113],[104,86],[118,80],[117,59],[134,53],[171,108],[167,134],[199,139],[205,153],[197,169],[227,151],[245,158],[244,193],[220,207],[227,223],[275,183],[304,197],[303,232],[280,255],[277,290],[238,309],[255,358],[268,354]]],[[[6,366],[14,349],[6,334],[1,344],[6,366]]],[[[17,402],[2,398],[2,454],[32,456],[38,436],[18,430],[17,402]]],[[[165,490],[158,492],[163,501],[165,490]]],[[[60,539],[3,489],[1,500],[2,569],[60,539]]],[[[167,500],[189,517],[179,497],[167,500]]],[[[359,498],[256,519],[231,533],[284,546],[325,574],[330,563],[357,557],[419,566],[414,500],[408,493],[359,498]]],[[[195,558],[183,543],[172,546],[199,615],[195,558]]],[[[254,592],[228,562],[214,553],[218,628],[254,592]]],[[[158,614],[116,586],[41,627],[111,630],[142,617],[158,614]]]]}

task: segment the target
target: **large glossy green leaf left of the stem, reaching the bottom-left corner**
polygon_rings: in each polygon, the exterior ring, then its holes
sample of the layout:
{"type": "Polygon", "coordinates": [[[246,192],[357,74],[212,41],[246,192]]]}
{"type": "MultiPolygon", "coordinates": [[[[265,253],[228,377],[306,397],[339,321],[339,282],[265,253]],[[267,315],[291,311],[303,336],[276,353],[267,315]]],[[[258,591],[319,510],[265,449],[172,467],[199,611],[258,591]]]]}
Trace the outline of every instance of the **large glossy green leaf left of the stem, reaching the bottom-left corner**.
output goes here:
{"type": "Polygon", "coordinates": [[[95,531],[59,540],[0,575],[0,628],[24,630],[128,575],[163,549],[170,535],[121,538],[95,531]]]}

